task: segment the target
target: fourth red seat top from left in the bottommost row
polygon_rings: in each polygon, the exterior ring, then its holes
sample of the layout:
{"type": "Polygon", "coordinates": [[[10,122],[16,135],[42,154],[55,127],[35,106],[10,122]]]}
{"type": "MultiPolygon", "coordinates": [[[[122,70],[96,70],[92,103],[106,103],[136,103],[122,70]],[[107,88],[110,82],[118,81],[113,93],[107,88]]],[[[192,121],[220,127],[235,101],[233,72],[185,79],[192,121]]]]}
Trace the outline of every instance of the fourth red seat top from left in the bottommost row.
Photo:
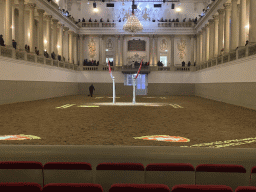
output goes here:
{"type": "Polygon", "coordinates": [[[232,188],[226,185],[176,185],[172,192],[233,192],[232,188]]]}

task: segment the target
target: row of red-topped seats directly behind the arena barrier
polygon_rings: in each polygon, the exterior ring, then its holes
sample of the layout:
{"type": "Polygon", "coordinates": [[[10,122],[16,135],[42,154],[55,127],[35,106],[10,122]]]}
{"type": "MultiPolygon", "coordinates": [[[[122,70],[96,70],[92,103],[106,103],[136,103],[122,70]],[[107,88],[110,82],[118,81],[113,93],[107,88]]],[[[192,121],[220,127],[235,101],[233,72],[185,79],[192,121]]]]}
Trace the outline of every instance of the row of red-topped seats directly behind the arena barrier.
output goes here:
{"type": "Polygon", "coordinates": [[[34,182],[42,187],[49,183],[97,183],[109,191],[114,183],[175,185],[256,186],[256,167],[247,178],[241,165],[201,164],[196,169],[189,163],[153,163],[146,169],[141,163],[100,163],[93,177],[92,166],[84,162],[49,162],[44,166],[34,161],[0,162],[0,182],[34,182]]]}

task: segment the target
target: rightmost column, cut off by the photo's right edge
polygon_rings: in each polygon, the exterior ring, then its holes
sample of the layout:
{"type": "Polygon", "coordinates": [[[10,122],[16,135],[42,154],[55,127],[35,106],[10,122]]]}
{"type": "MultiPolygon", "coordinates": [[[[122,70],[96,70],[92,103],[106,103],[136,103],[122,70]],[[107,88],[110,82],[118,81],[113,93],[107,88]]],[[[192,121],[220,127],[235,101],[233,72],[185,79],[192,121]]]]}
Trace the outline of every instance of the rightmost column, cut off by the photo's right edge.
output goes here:
{"type": "Polygon", "coordinates": [[[256,1],[250,1],[249,43],[256,43],[256,1]]]}

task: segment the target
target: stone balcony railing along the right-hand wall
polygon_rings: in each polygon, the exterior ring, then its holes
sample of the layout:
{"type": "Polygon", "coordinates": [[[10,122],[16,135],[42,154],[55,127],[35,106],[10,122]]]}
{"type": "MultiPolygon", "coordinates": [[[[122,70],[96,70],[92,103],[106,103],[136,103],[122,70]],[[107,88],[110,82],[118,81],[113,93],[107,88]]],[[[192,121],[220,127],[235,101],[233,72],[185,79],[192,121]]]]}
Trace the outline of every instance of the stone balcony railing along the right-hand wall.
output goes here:
{"type": "Polygon", "coordinates": [[[245,47],[240,47],[235,51],[231,51],[224,55],[219,55],[218,57],[215,57],[209,61],[199,63],[198,66],[196,67],[196,71],[213,67],[216,65],[221,65],[230,61],[235,61],[237,59],[241,59],[252,55],[256,55],[256,44],[249,44],[245,47]]]}

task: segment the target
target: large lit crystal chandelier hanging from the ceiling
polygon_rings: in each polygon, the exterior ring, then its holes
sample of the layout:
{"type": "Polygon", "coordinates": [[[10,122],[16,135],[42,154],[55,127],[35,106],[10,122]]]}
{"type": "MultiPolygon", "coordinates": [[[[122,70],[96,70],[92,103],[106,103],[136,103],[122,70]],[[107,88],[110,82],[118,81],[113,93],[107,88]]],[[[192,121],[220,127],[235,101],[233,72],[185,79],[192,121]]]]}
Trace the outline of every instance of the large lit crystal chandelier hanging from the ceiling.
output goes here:
{"type": "Polygon", "coordinates": [[[132,15],[128,17],[126,23],[123,26],[123,30],[136,33],[142,31],[143,26],[140,23],[139,19],[134,15],[134,0],[132,1],[132,15]]]}

